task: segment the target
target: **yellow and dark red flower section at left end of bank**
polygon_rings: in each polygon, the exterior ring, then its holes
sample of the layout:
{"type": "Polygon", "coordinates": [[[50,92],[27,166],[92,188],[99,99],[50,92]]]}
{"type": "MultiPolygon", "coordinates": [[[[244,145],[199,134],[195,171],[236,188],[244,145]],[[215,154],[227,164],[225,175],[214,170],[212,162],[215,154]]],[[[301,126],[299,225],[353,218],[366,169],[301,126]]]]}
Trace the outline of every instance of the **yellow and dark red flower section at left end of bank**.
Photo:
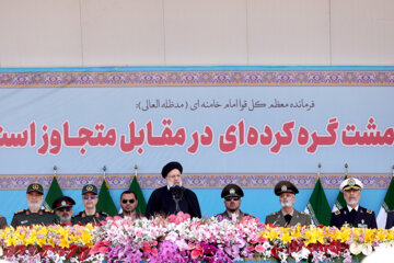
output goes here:
{"type": "Polygon", "coordinates": [[[93,226],[8,227],[0,230],[0,258],[10,262],[96,262],[89,254],[93,226]]]}

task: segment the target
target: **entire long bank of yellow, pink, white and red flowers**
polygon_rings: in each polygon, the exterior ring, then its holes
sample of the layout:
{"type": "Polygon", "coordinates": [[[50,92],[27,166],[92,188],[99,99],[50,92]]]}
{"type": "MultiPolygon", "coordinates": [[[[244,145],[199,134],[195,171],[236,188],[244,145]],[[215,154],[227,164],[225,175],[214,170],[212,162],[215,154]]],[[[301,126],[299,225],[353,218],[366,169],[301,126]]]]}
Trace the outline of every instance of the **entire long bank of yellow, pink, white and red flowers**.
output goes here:
{"type": "Polygon", "coordinates": [[[394,248],[394,229],[275,227],[258,218],[240,221],[190,218],[179,213],[153,219],[108,217],[88,225],[10,227],[0,231],[0,258],[11,262],[300,262],[360,260],[394,248]]]}

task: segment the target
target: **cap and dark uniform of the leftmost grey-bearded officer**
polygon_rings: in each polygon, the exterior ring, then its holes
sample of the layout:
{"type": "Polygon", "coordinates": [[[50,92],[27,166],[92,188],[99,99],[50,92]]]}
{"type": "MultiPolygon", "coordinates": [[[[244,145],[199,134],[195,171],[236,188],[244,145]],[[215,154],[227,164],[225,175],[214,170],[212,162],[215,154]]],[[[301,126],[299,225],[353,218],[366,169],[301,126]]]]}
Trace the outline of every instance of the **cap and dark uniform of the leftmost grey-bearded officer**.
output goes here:
{"type": "MultiPolygon", "coordinates": [[[[26,193],[37,192],[44,195],[43,185],[34,183],[27,186],[26,193]]],[[[49,225],[55,224],[56,217],[53,210],[39,209],[37,213],[32,213],[30,209],[16,211],[12,218],[11,226],[32,226],[32,225],[49,225]]]]}

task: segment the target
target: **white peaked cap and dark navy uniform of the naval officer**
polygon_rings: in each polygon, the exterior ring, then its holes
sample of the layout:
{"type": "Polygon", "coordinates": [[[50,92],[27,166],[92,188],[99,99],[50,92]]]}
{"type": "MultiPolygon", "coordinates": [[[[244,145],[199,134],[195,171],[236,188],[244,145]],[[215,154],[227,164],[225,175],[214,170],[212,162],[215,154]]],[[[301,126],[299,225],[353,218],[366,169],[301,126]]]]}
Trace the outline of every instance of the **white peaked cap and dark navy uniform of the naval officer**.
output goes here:
{"type": "MultiPolygon", "coordinates": [[[[361,191],[363,184],[358,179],[347,179],[340,184],[340,191],[345,192],[348,190],[361,191]]],[[[372,210],[366,209],[359,206],[356,211],[350,211],[348,207],[344,207],[340,210],[332,213],[332,219],[329,226],[340,228],[344,225],[356,228],[378,228],[375,215],[372,210]]]]}

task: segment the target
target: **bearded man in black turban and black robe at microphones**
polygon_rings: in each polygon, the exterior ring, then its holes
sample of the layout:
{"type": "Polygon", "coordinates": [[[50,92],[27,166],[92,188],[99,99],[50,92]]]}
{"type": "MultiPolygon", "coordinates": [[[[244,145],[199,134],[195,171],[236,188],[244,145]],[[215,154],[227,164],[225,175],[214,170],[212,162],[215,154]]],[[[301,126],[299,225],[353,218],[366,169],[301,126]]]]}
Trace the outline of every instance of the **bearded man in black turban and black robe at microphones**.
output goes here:
{"type": "Polygon", "coordinates": [[[178,211],[187,213],[192,217],[201,217],[201,210],[196,194],[182,186],[183,168],[178,162],[169,162],[163,167],[162,176],[166,184],[151,194],[146,216],[172,215],[178,211]]]}

